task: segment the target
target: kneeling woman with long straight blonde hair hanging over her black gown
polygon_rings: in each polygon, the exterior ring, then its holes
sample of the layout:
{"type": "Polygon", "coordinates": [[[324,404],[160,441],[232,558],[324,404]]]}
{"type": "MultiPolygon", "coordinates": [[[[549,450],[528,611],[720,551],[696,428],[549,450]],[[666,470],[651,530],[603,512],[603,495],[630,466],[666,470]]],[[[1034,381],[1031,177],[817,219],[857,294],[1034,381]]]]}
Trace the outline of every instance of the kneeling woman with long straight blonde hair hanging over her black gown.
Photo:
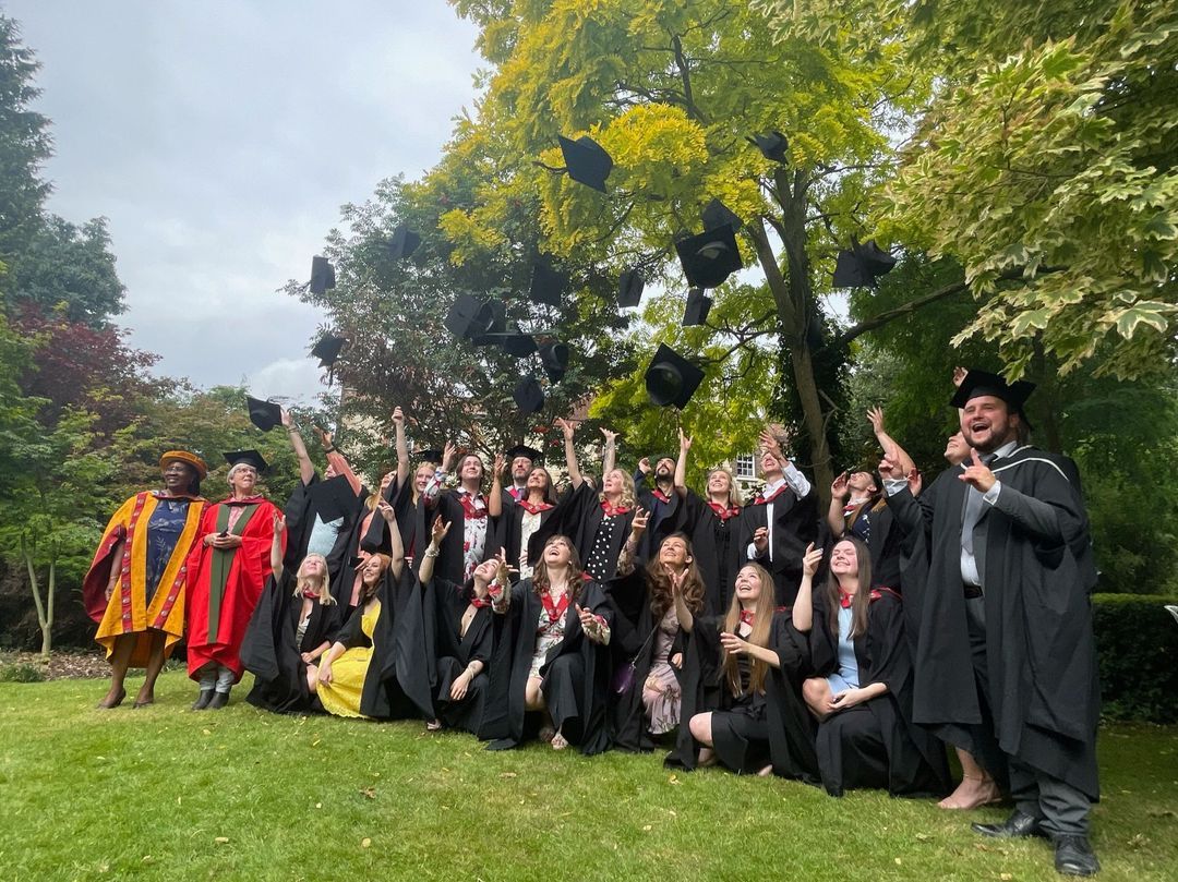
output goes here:
{"type": "Polygon", "coordinates": [[[806,638],[774,606],[774,582],[759,564],[736,573],[723,618],[696,617],[683,575],[671,578],[675,612],[688,634],[683,718],[668,765],[684,769],[717,760],[737,772],[776,774],[818,783],[814,721],[801,699],[809,671],[806,638]]]}

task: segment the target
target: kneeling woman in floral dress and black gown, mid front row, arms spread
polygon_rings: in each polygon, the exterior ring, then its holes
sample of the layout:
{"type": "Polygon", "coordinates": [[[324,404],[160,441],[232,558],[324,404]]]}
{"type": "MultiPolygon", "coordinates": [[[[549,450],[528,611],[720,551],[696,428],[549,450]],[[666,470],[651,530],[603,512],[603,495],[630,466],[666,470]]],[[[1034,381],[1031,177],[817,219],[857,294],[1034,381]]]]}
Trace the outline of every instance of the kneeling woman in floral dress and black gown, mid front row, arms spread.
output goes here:
{"type": "Polygon", "coordinates": [[[582,754],[608,747],[605,694],[609,679],[610,616],[605,593],[587,581],[567,536],[544,544],[531,578],[507,586],[508,568],[490,589],[492,609],[508,616],[496,650],[492,683],[508,678],[508,737],[489,748],[524,741],[527,716],[542,715],[541,740],[555,750],[578,744],[582,754]]]}

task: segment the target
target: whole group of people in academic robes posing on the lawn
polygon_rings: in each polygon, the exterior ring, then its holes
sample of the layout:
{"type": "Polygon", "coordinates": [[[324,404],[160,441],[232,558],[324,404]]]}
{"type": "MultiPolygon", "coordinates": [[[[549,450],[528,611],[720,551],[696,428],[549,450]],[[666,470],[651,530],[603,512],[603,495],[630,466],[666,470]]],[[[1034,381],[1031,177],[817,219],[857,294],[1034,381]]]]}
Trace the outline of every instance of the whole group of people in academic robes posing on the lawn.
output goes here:
{"type": "Polygon", "coordinates": [[[302,478],[282,511],[258,493],[256,451],[226,455],[217,504],[199,496],[199,457],[171,451],[164,490],[124,504],[86,577],[113,668],[99,707],[124,701],[130,667],[147,669],[134,707],[152,703],[185,637],[194,710],[224,707],[250,670],[258,708],[421,719],[489,749],[662,744],[671,765],[834,796],[968,809],[1006,795],[1012,816],[975,830],[1050,836],[1057,869],[1091,875],[1094,569],[1078,476],[1026,444],[1030,384],[954,379],[948,470],[924,486],[873,411],[879,469],[840,475],[823,516],[773,425],[747,503],[724,467],[686,486],[682,432],[676,457],[631,475],[603,430],[590,478],[568,420],[560,496],[523,445],[490,473],[450,444],[415,464],[401,409],[397,469],[373,490],[318,430],[320,477],[282,411],[302,478]]]}

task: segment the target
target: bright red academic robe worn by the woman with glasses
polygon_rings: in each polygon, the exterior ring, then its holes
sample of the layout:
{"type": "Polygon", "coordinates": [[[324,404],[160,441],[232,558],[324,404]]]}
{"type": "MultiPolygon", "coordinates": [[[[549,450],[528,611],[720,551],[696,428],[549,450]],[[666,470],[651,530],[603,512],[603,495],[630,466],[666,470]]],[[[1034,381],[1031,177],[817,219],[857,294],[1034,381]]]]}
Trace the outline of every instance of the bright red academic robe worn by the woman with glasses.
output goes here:
{"type": "MultiPolygon", "coordinates": [[[[260,496],[225,499],[205,510],[192,553],[188,556],[188,677],[210,662],[241,678],[238,654],[253,608],[270,577],[270,546],[278,509],[260,496]],[[204,544],[209,533],[227,526],[229,511],[246,506],[231,532],[241,537],[237,549],[218,550],[204,544]]],[[[285,533],[283,545],[285,548],[285,533]]]]}

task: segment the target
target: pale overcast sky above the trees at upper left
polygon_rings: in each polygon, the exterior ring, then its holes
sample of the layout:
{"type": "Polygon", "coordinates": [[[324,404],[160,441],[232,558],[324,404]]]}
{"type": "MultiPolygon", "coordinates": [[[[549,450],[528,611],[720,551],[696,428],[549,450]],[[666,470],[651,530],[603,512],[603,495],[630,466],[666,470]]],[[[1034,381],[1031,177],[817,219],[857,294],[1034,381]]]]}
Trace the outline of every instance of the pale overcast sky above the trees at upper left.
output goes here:
{"type": "Polygon", "coordinates": [[[471,107],[444,0],[0,0],[41,62],[49,208],[106,215],[120,324],[158,372],[309,400],[310,278],[339,206],[418,177],[471,107]]]}

